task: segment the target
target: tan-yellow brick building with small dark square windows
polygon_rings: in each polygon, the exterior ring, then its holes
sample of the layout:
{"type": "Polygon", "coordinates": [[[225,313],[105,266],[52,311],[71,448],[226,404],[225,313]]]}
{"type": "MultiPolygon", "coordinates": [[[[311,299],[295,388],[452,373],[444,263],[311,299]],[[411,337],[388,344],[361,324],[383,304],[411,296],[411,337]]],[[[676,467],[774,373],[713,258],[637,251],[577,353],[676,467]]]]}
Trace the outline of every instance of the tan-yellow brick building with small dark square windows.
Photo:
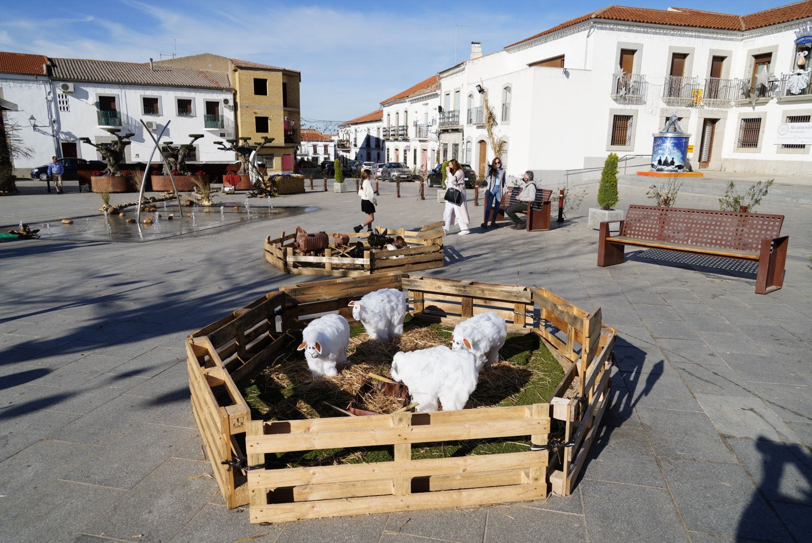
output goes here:
{"type": "Polygon", "coordinates": [[[301,134],[300,72],[209,53],[160,62],[227,73],[235,90],[236,136],[252,142],[274,138],[259,152],[260,162],[269,172],[292,172],[301,134]]]}

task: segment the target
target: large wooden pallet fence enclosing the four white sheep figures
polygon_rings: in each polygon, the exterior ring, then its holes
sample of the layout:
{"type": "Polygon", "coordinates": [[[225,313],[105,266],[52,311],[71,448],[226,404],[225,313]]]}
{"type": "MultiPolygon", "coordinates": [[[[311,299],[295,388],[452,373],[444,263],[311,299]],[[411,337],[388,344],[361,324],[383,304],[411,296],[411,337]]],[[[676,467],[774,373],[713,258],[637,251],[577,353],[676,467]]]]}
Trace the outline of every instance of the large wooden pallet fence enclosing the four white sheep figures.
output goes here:
{"type": "MultiPolygon", "coordinates": [[[[545,289],[385,272],[283,286],[187,340],[192,411],[227,506],[250,504],[251,522],[455,507],[568,494],[608,406],[615,330],[545,289]],[[535,333],[564,367],[550,402],[365,417],[252,420],[236,383],[253,376],[299,330],[326,312],[349,322],[348,302],[404,289],[417,319],[453,325],[497,311],[508,330],[535,333]],[[575,398],[565,398],[573,380],[575,398]],[[564,428],[553,439],[551,427],[564,428]],[[412,443],[530,437],[538,450],[412,459],[412,443]],[[264,467],[283,451],[385,445],[392,462],[264,467]]],[[[304,363],[304,362],[303,362],[304,363]]]]}

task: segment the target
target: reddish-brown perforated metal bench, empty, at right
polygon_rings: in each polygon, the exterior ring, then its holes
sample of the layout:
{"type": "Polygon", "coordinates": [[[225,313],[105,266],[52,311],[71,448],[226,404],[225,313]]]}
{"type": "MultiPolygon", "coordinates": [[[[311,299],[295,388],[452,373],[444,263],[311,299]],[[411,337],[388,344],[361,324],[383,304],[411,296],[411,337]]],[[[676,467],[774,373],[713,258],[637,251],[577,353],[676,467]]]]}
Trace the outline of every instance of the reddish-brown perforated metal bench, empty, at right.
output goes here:
{"type": "Polygon", "coordinates": [[[756,293],[784,285],[788,236],[780,236],[784,215],[682,207],[628,206],[626,218],[601,223],[598,266],[624,261],[624,245],[710,254],[758,261],[756,293]],[[620,223],[612,236],[609,224],[620,223]]]}

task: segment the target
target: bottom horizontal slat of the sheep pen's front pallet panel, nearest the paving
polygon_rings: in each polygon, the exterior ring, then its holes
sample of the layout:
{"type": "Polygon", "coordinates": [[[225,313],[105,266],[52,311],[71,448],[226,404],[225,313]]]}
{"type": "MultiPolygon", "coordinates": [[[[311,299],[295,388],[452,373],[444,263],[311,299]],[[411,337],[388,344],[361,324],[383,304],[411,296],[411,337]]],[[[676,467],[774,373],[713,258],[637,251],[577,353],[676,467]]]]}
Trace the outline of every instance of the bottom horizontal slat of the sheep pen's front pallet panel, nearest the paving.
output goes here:
{"type": "Polygon", "coordinates": [[[252,523],[287,522],[297,519],[522,502],[542,497],[546,497],[546,484],[514,484],[487,489],[443,490],[406,496],[350,497],[322,502],[252,507],[250,518],[252,523]]]}

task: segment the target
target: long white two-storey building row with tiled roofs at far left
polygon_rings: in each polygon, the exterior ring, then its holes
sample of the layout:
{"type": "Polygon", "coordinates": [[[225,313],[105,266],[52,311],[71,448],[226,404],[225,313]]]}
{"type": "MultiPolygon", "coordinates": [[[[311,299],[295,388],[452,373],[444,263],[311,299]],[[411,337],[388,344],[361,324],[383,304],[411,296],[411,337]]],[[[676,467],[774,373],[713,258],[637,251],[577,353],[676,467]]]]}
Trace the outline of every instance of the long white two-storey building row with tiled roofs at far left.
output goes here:
{"type": "Polygon", "coordinates": [[[140,124],[158,134],[171,121],[163,141],[197,140],[188,162],[229,163],[235,157],[214,141],[234,137],[234,92],[226,74],[188,68],[104,60],[48,59],[42,55],[0,54],[0,88],[19,106],[6,119],[22,128],[20,136],[32,157],[15,163],[18,174],[60,157],[101,159],[96,148],[79,141],[114,141],[106,128],[133,132],[126,162],[145,162],[153,141],[140,124]],[[21,59],[27,57],[27,59],[21,59]],[[39,65],[41,74],[33,74],[39,65]],[[15,67],[28,73],[13,73],[15,67]]]}

